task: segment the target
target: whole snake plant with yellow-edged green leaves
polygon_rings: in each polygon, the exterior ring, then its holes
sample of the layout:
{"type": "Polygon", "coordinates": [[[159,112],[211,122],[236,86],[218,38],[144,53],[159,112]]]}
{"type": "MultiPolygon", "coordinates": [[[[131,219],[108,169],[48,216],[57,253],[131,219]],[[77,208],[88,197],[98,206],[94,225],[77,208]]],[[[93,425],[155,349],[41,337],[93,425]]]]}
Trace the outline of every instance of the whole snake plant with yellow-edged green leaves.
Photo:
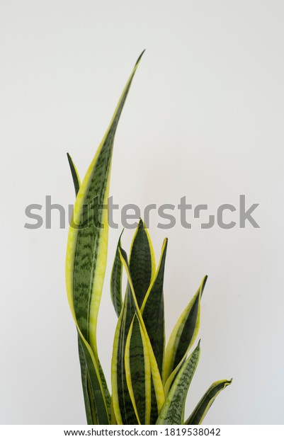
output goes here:
{"type": "Polygon", "coordinates": [[[165,239],[156,268],[149,232],[142,220],[132,240],[129,262],[120,236],[111,273],[110,295],[118,317],[111,394],[98,356],[96,329],[106,270],[108,212],[97,210],[94,215],[93,204],[94,200],[108,203],[115,131],[141,56],[82,183],[67,154],[76,201],[69,227],[66,282],[78,333],[86,418],[88,424],[103,425],[200,424],[217,394],[232,381],[214,382],[185,418],[188,387],[200,356],[200,343],[191,348],[198,334],[200,300],[207,277],[179,317],[165,348],[163,285],[168,243],[165,239]],[[123,271],[127,276],[124,297],[123,271]]]}

